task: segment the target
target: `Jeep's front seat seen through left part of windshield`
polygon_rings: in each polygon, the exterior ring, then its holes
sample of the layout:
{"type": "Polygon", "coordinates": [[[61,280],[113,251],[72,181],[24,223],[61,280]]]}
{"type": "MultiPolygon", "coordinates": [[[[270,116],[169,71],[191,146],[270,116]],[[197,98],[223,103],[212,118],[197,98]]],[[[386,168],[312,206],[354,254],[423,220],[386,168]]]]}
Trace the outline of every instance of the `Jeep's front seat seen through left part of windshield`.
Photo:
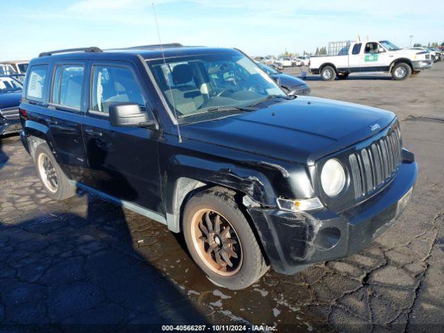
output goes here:
{"type": "Polygon", "coordinates": [[[180,114],[194,113],[203,104],[203,96],[194,82],[193,70],[188,64],[173,67],[171,73],[174,88],[164,91],[171,105],[176,105],[180,114]]]}

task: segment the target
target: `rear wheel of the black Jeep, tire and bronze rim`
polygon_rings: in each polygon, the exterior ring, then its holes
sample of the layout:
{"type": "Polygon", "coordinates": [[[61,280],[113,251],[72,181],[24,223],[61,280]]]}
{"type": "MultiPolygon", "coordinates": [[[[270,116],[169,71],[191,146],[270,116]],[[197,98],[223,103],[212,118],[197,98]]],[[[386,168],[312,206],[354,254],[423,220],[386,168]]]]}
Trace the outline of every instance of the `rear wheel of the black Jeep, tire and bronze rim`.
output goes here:
{"type": "Polygon", "coordinates": [[[65,175],[62,169],[60,169],[60,166],[56,162],[56,159],[47,144],[40,144],[35,148],[34,163],[37,174],[40,177],[40,182],[42,182],[46,193],[51,198],[55,200],[65,200],[76,195],[76,186],[69,182],[69,178],[65,175]],[[51,163],[53,169],[51,174],[56,177],[56,185],[52,180],[49,180],[47,171],[45,172],[43,170],[44,167],[42,164],[44,164],[45,158],[51,163]]]}

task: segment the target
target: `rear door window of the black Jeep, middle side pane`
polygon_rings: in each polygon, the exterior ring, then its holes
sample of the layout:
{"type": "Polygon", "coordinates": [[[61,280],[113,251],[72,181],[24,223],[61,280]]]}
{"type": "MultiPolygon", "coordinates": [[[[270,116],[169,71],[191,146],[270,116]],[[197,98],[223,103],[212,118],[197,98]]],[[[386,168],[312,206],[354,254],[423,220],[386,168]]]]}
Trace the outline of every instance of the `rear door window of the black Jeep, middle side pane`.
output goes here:
{"type": "Polygon", "coordinates": [[[80,109],[82,99],[83,66],[57,66],[53,80],[51,103],[80,109]]]}

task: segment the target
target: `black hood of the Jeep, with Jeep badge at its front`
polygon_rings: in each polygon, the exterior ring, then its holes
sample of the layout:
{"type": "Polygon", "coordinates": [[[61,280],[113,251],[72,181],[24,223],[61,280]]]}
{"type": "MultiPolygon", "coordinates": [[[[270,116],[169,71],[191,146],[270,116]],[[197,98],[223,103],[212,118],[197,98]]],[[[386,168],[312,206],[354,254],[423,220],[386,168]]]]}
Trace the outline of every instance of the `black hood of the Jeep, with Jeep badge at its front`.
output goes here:
{"type": "Polygon", "coordinates": [[[253,112],[182,126],[184,139],[280,160],[316,160],[375,135],[395,119],[377,108],[299,96],[253,112]]]}

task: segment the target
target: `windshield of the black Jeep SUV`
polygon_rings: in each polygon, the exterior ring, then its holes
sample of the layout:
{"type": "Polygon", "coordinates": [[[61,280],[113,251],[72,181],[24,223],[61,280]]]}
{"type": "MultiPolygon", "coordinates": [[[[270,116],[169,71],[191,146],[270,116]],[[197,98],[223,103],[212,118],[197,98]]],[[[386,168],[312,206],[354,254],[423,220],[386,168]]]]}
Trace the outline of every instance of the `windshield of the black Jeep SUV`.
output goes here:
{"type": "Polygon", "coordinates": [[[287,96],[253,60],[236,51],[165,61],[148,60],[148,65],[178,119],[287,96]]]}

